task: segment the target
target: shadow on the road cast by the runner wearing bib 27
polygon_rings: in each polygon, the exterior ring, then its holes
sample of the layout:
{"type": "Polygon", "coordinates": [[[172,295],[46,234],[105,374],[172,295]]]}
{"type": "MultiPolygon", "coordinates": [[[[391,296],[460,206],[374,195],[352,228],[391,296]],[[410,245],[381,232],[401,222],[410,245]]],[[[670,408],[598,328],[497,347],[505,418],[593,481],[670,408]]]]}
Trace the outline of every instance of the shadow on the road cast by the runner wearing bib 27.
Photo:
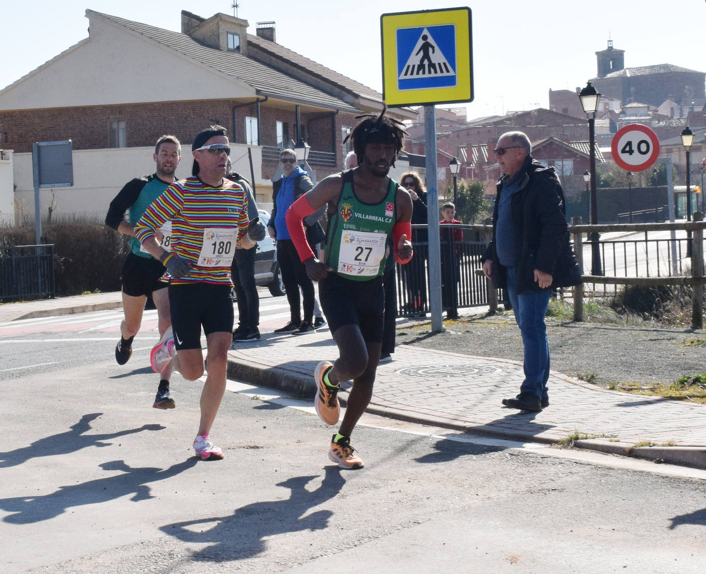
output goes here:
{"type": "Polygon", "coordinates": [[[232,515],[186,520],[163,526],[162,532],[193,544],[209,544],[193,554],[202,560],[234,561],[257,556],[265,539],[276,534],[321,530],[328,527],[332,510],[311,508],[334,498],[345,484],[338,467],[326,467],[321,486],[307,490],[318,476],[294,476],[277,486],[289,488],[286,500],[263,500],[237,508],[232,515]]]}

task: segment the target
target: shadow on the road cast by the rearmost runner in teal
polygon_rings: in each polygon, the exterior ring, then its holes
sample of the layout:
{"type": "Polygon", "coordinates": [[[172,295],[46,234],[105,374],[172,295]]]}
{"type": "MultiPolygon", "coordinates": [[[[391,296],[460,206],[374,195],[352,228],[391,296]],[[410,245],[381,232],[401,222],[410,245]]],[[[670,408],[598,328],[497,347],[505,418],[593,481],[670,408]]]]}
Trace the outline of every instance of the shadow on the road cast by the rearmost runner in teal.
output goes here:
{"type": "Polygon", "coordinates": [[[143,425],[140,428],[131,428],[121,430],[117,433],[102,433],[97,435],[88,435],[91,429],[90,423],[101,416],[102,413],[85,414],[75,425],[71,426],[71,430],[66,433],[52,435],[45,438],[35,440],[28,447],[21,447],[7,452],[0,452],[0,468],[16,467],[18,464],[37,457],[50,457],[53,455],[66,455],[69,452],[76,452],[87,447],[107,447],[110,443],[104,443],[104,440],[112,440],[133,433],[140,433],[143,430],[162,430],[166,427],[162,425],[143,425]]]}

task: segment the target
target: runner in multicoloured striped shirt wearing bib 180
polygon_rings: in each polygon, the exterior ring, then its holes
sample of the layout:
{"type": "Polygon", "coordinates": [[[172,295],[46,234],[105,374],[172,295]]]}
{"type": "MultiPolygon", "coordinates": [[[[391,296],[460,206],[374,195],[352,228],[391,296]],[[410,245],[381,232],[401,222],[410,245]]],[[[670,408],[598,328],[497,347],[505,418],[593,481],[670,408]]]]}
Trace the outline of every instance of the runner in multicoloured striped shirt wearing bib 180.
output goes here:
{"type": "MultiPolygon", "coordinates": [[[[136,225],[136,237],[172,276],[169,304],[173,333],[152,349],[152,368],[174,359],[174,370],[186,380],[204,371],[201,327],[206,336],[208,375],[201,392],[201,421],[193,448],[202,459],[222,459],[209,438],[225,392],[228,349],[232,342],[233,286],[230,266],[235,246],[255,246],[248,233],[244,189],[225,180],[230,148],[226,129],[211,126],[191,144],[193,177],[170,185],[148,207],[136,225]],[[172,251],[155,240],[155,231],[172,221],[172,251]],[[176,349],[176,353],[174,353],[176,349]]],[[[253,222],[256,223],[256,222],[253,222]]]]}

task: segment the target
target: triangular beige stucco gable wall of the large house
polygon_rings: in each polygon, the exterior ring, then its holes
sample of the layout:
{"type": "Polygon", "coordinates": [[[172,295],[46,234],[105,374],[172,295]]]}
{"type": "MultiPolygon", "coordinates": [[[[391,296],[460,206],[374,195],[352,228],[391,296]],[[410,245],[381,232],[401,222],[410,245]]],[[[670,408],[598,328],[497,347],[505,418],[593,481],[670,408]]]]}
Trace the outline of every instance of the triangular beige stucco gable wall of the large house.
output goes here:
{"type": "Polygon", "coordinates": [[[0,110],[203,100],[204,86],[208,98],[255,98],[236,78],[116,26],[91,17],[90,39],[0,91],[0,110]]]}

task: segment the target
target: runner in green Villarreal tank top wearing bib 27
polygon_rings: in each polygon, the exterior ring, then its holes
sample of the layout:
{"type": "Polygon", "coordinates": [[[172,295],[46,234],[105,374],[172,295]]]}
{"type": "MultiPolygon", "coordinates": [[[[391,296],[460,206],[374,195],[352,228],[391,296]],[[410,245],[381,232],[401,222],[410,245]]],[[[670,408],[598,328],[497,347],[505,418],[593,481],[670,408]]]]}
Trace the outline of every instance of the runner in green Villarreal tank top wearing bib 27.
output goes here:
{"type": "Polygon", "coordinates": [[[338,423],[337,391],[353,380],[348,405],[328,457],[344,469],[363,460],[350,435],[368,406],[383,340],[385,298],[382,274],[386,257],[405,264],[412,259],[412,198],[388,177],[402,149],[405,131],[395,119],[366,115],[351,134],[358,167],[330,175],[287,211],[287,228],[306,273],[319,284],[319,299],[338,346],[335,363],[323,361],[314,372],[314,406],[321,419],[338,423]],[[302,220],[328,205],[323,262],[306,243],[302,220]],[[392,235],[395,253],[385,246],[392,235]]]}

